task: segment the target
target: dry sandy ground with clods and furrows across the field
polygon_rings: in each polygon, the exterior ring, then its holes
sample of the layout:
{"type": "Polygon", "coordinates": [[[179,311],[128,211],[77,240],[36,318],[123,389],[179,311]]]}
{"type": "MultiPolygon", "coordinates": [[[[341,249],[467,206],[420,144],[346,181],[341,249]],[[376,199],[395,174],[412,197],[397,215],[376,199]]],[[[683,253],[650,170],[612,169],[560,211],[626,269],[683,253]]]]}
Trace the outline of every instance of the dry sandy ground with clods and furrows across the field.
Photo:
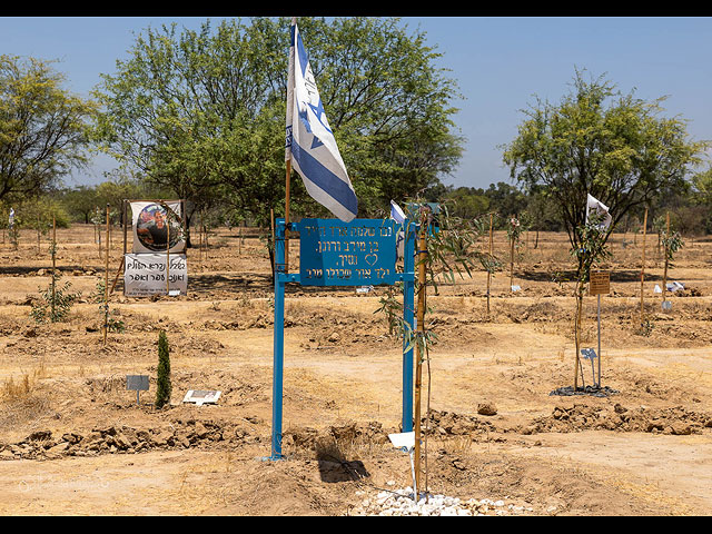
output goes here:
{"type": "MultiPolygon", "coordinates": [[[[503,255],[504,239],[497,234],[503,255]]],[[[564,235],[542,235],[536,249],[533,243],[532,234],[515,269],[522,291],[510,294],[508,276],[495,276],[491,317],[482,271],[429,294],[438,335],[429,490],[502,498],[534,515],[709,515],[712,244],[686,240],[670,274],[686,289],[663,314],[652,293],[662,265],[649,236],[652,329],[642,335],[640,236],[614,237],[602,374],[620,393],[597,398],[550,396],[573,382],[572,289],[552,281],[571,265],[564,235]],[[477,414],[485,402],[496,415],[477,414]]],[[[111,277],[120,249],[115,241],[111,277]]],[[[103,275],[92,228],[59,231],[62,281],[82,301],[53,325],[29,317],[49,281],[37,274],[50,265],[47,244],[38,254],[28,234],[18,250],[0,245],[0,513],[342,515],[379,490],[411,484],[407,456],[387,441],[399,429],[402,352],[374,314],[384,289],[289,288],[287,459],[269,462],[267,255],[258,239],[240,245],[235,229],[220,229],[202,264],[191,251],[187,297],[125,298],[119,281],[111,309],[126,330],[111,333],[103,348],[90,298],[103,275]],[[159,329],[168,333],[174,382],[162,411],[150,405],[159,329]],[[125,389],[126,374],[151,376],[140,407],[125,389]],[[222,390],[217,406],[181,404],[187,389],[204,388],[222,390]],[[76,438],[63,436],[72,433],[82,439],[70,445],[76,438]]],[[[595,298],[586,298],[586,346],[596,344],[595,313],[595,298]]]]}

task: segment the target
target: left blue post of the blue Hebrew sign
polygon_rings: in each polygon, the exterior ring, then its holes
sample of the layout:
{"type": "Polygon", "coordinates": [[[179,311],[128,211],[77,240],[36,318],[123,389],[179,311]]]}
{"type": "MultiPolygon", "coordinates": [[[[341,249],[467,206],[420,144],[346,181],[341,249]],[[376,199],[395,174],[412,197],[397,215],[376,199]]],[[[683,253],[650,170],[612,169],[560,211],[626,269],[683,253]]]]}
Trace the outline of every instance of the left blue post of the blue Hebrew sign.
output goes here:
{"type": "Polygon", "coordinates": [[[275,220],[275,323],[271,385],[271,456],[281,459],[281,408],[285,360],[285,219],[275,220]]]}

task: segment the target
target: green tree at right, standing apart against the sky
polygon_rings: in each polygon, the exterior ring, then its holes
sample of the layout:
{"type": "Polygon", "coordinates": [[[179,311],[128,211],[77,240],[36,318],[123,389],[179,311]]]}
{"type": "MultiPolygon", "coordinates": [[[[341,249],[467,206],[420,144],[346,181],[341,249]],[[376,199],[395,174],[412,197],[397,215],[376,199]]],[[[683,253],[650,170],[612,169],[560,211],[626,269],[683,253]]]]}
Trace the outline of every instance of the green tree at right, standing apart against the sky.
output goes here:
{"type": "Polygon", "coordinates": [[[543,186],[556,200],[574,249],[581,248],[576,228],[585,222],[587,194],[610,208],[607,239],[629,210],[663,188],[683,187],[700,162],[709,144],[690,140],[683,119],[662,117],[662,101],[623,95],[603,77],[586,80],[576,70],[560,103],[537,99],[524,110],[517,137],[503,147],[504,162],[512,179],[543,186]]]}

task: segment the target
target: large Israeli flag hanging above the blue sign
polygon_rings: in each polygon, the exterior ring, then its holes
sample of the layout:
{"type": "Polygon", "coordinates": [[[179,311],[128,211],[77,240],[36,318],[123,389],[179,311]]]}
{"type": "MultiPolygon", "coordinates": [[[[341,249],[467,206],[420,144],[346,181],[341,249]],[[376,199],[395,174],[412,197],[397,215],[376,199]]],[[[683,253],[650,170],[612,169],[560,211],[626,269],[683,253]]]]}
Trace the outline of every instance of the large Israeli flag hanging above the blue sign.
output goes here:
{"type": "Polygon", "coordinates": [[[307,192],[344,222],[358,211],[358,200],[329,128],[319,91],[291,19],[285,160],[291,159],[307,192]]]}

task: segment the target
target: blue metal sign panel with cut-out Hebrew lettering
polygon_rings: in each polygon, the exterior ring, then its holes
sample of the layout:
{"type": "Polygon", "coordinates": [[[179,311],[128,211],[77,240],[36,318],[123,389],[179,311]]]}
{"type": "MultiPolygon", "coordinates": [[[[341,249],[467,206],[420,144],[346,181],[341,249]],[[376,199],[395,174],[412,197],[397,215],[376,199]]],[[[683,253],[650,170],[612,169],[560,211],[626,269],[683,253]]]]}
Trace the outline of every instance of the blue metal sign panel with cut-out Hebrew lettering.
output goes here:
{"type": "Polygon", "coordinates": [[[301,219],[297,224],[300,284],[393,285],[398,226],[392,219],[301,219]]]}

